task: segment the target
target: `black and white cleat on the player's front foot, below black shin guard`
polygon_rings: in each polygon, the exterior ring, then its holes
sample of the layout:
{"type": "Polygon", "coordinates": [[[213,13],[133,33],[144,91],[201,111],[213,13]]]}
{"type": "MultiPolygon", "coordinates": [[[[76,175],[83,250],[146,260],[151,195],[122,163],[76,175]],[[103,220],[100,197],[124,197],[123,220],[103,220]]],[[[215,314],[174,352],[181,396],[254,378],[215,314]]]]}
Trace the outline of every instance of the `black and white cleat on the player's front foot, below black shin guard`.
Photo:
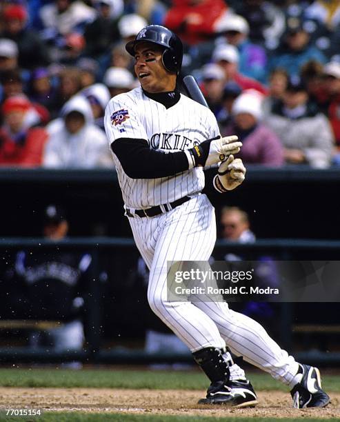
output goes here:
{"type": "Polygon", "coordinates": [[[220,404],[230,408],[250,408],[257,405],[257,396],[250,381],[216,381],[210,384],[206,399],[198,404],[220,404]],[[228,384],[228,385],[227,385],[228,384]]]}

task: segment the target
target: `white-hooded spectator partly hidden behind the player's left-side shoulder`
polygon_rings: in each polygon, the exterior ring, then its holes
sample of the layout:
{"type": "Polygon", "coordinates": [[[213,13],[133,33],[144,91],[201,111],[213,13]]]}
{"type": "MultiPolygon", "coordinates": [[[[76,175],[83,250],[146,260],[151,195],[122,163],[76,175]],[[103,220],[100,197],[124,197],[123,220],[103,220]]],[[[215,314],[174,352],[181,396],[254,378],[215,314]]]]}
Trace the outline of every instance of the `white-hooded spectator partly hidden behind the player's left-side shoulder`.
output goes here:
{"type": "Polygon", "coordinates": [[[94,124],[104,130],[104,113],[110,101],[110,91],[103,83],[94,83],[81,90],[81,94],[90,103],[94,124]]]}

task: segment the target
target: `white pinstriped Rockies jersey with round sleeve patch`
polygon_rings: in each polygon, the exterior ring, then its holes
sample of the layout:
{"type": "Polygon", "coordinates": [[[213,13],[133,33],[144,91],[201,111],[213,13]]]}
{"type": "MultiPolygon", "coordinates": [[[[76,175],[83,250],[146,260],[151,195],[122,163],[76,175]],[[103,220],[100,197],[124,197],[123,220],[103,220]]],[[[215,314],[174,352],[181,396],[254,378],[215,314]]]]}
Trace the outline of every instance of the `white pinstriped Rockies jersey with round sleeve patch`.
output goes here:
{"type": "MultiPolygon", "coordinates": [[[[105,129],[110,144],[119,138],[146,139],[150,148],[168,153],[187,150],[219,135],[217,121],[208,108],[181,94],[178,103],[167,109],[146,97],[141,88],[110,100],[106,107],[105,129]]],[[[170,177],[131,179],[117,156],[112,154],[123,201],[128,208],[171,203],[204,188],[202,168],[192,168],[170,177]]]]}

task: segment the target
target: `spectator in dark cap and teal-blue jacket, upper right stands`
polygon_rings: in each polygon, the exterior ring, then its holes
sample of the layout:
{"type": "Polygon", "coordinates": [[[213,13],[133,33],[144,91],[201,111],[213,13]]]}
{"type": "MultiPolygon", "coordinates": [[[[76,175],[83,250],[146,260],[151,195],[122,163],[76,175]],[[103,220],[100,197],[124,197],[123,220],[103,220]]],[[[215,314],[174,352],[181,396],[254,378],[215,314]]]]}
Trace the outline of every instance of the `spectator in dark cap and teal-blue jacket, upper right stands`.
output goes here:
{"type": "Polygon", "coordinates": [[[299,77],[302,66],[310,60],[326,63],[326,57],[316,47],[310,45],[310,35],[303,23],[296,18],[288,19],[287,31],[281,46],[270,59],[270,70],[283,68],[292,77],[299,77]]]}

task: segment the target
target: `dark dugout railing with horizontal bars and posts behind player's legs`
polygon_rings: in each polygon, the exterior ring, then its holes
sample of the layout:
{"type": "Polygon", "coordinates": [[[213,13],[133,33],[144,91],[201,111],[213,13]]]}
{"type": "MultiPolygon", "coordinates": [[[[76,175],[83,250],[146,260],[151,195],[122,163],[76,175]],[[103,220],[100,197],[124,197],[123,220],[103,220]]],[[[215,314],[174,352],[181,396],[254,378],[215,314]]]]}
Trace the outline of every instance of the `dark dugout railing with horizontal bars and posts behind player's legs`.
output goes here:
{"type": "MultiPolygon", "coordinates": [[[[191,362],[192,356],[188,354],[150,354],[143,350],[130,349],[120,345],[114,348],[103,348],[101,345],[101,297],[99,294],[99,270],[101,268],[100,261],[103,254],[122,253],[130,255],[136,253],[136,247],[132,239],[127,238],[107,238],[107,237],[90,237],[90,238],[70,238],[61,242],[46,241],[45,239],[27,239],[27,238],[2,238],[0,239],[0,251],[6,254],[10,251],[20,249],[25,250],[47,250],[49,248],[59,248],[59,250],[86,250],[92,254],[92,274],[90,283],[90,294],[88,295],[88,330],[86,348],[81,351],[53,352],[45,348],[30,350],[27,347],[1,347],[0,362],[2,363],[52,363],[66,361],[82,361],[84,363],[129,363],[129,364],[146,364],[146,363],[171,363],[171,362],[191,362]]],[[[340,250],[340,241],[328,240],[309,240],[309,239],[259,239],[255,243],[240,244],[225,241],[217,241],[214,248],[214,257],[228,252],[242,254],[247,259],[254,259],[259,254],[270,254],[279,260],[287,261],[289,259],[303,259],[303,257],[337,257],[340,250]],[[302,257],[302,258],[296,258],[302,257]]],[[[315,259],[315,258],[314,258],[315,259]]],[[[328,259],[328,258],[326,258],[328,259]]],[[[332,259],[332,258],[331,258],[332,259]]],[[[334,258],[335,259],[335,258],[334,258]]],[[[110,281],[112,283],[117,280],[110,281]]],[[[119,281],[118,281],[119,282],[119,281]]],[[[112,299],[112,302],[114,299],[112,299]]],[[[6,319],[1,323],[10,329],[10,321],[6,319]],[[7,324],[7,325],[6,325],[7,324]]],[[[28,321],[26,321],[27,323],[28,321]]],[[[33,321],[33,323],[41,323],[43,321],[33,321]]],[[[132,322],[131,322],[132,323],[132,322]]],[[[15,323],[13,323],[15,325],[15,323]]],[[[23,325],[25,321],[23,322],[23,325]]],[[[312,332],[314,329],[323,331],[321,325],[303,325],[294,326],[291,303],[279,304],[279,342],[287,350],[291,350],[294,330],[297,332],[312,332]],[[314,328],[313,328],[314,327],[314,328]],[[321,328],[320,328],[321,327],[321,328]]],[[[32,325],[32,321],[30,323],[32,325]]],[[[16,327],[18,329],[18,326],[16,327]]],[[[23,327],[22,327],[23,328],[23,327]]],[[[339,323],[332,327],[333,332],[339,334],[339,323]]],[[[332,330],[331,330],[332,331],[332,330]]],[[[322,352],[319,350],[301,350],[295,352],[294,356],[299,361],[311,363],[315,365],[340,365],[340,352],[322,352]]]]}

